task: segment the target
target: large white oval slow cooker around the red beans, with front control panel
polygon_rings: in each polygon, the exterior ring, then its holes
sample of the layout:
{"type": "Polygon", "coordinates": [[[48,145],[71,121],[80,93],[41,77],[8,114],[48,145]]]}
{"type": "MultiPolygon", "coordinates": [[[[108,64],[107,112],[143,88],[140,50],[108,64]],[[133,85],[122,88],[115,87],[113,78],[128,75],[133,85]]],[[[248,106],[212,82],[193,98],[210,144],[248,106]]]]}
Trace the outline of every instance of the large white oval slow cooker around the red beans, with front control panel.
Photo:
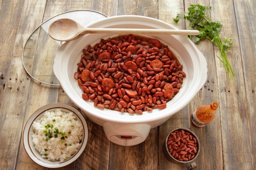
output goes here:
{"type": "MultiPolygon", "coordinates": [[[[160,20],[144,16],[114,16],[90,23],[94,28],[154,28],[177,29],[160,20]]],[[[118,145],[131,146],[142,143],[151,128],[164,123],[176,112],[185,107],[196,95],[207,79],[206,59],[194,43],[184,35],[142,35],[160,40],[168,45],[178,60],[183,64],[186,78],[180,92],[167,102],[165,109],[144,111],[143,115],[121,113],[110,109],[98,109],[92,101],[82,99],[82,90],[74,79],[80,62],[82,49],[100,42],[101,38],[115,37],[110,34],[88,34],[64,43],[54,59],[54,74],[70,100],[86,113],[94,122],[103,126],[108,139],[118,145]]]]}

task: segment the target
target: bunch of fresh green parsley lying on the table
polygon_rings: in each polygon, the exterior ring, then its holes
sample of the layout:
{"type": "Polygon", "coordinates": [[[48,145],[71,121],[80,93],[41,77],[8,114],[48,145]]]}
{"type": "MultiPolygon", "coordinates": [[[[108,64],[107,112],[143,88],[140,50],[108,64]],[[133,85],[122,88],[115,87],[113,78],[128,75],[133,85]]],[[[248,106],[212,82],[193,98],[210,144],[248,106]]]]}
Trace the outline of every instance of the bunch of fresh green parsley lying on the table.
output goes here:
{"type": "MultiPolygon", "coordinates": [[[[233,81],[235,82],[234,72],[226,55],[226,52],[232,46],[232,39],[226,38],[222,40],[220,38],[220,29],[222,27],[222,24],[219,21],[211,20],[211,9],[211,7],[201,6],[199,4],[190,5],[190,7],[188,8],[188,12],[183,14],[183,18],[190,21],[190,27],[188,29],[197,29],[200,32],[199,35],[196,36],[195,43],[199,43],[203,39],[208,39],[212,43],[214,43],[214,45],[216,45],[218,49],[220,49],[221,57],[218,57],[220,59],[220,65],[221,62],[224,64],[225,70],[228,73],[228,78],[230,78],[231,76],[233,81]]],[[[178,23],[181,18],[182,15],[177,14],[176,18],[173,18],[173,20],[175,23],[178,23]]],[[[189,35],[188,37],[190,39],[192,38],[191,35],[189,35]]]]}

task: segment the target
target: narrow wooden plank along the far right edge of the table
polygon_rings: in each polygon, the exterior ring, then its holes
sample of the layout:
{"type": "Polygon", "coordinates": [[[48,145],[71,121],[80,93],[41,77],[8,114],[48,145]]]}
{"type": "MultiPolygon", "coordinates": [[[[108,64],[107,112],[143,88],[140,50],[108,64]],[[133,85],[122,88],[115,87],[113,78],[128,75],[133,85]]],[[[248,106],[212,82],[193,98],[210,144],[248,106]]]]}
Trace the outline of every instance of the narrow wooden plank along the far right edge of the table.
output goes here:
{"type": "Polygon", "coordinates": [[[254,155],[254,168],[256,168],[256,33],[254,31],[256,25],[256,14],[253,12],[255,7],[255,0],[234,1],[234,11],[236,14],[236,25],[238,29],[246,88],[246,99],[250,120],[250,135],[252,139],[252,153],[254,155]]]}

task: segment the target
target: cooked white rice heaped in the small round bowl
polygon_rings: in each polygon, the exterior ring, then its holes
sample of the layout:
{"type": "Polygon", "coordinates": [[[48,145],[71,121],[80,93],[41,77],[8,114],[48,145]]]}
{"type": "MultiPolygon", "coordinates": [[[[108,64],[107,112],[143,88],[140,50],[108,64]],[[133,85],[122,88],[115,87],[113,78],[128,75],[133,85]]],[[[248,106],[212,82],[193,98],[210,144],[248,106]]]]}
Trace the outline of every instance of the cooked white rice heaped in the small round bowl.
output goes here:
{"type": "Polygon", "coordinates": [[[35,133],[32,133],[32,141],[35,149],[38,150],[43,158],[47,158],[48,160],[67,160],[81,146],[79,142],[82,140],[83,126],[80,121],[76,120],[72,112],[65,113],[61,109],[51,112],[46,111],[40,120],[33,122],[32,127],[35,131],[35,133]],[[52,121],[53,119],[55,121],[52,121]],[[48,141],[46,141],[46,133],[44,132],[46,130],[44,126],[47,124],[54,125],[53,128],[49,127],[50,131],[52,131],[52,138],[48,141]],[[58,134],[58,137],[54,138],[54,134],[56,133],[53,131],[56,127],[59,131],[65,132],[64,137],[68,137],[65,138],[64,143],[61,142],[62,135],[58,134]],[[71,133],[69,134],[68,132],[71,133]],[[65,146],[65,144],[67,145],[65,146]],[[48,155],[44,156],[44,154],[48,155]]]}

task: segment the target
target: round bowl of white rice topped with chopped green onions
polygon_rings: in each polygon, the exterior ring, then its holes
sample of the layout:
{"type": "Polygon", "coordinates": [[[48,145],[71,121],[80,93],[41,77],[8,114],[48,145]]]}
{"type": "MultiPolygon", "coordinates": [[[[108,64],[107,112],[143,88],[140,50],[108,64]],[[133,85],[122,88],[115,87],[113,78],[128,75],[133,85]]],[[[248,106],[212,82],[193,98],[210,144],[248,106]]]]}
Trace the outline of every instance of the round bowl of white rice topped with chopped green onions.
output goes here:
{"type": "Polygon", "coordinates": [[[47,168],[60,168],[74,162],[84,151],[88,127],[75,107],[54,103],[35,111],[28,119],[23,143],[28,156],[47,168]]]}

